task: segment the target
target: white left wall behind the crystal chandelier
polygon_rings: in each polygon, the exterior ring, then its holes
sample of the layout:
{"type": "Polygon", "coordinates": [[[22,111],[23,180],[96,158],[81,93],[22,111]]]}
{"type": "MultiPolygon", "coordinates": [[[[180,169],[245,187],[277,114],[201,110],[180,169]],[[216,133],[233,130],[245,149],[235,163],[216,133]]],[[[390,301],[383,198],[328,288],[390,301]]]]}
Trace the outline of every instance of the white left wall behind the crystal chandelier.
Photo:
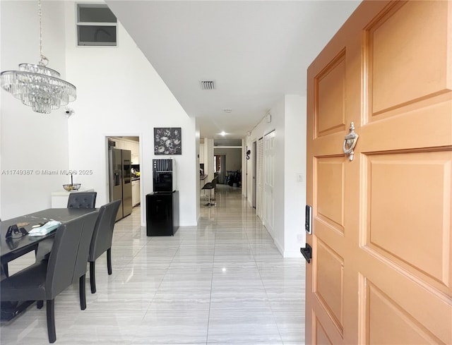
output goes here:
{"type": "MultiPolygon", "coordinates": [[[[19,63],[40,59],[37,1],[0,1],[1,71],[17,70],[19,63]]],[[[66,78],[64,4],[42,2],[43,53],[49,68],[66,78]]],[[[1,90],[1,193],[0,217],[8,219],[51,207],[52,191],[63,191],[70,178],[68,129],[63,109],[38,114],[8,92],[1,90]],[[21,169],[22,174],[14,172],[21,169]],[[23,174],[27,171],[29,174],[23,174]],[[57,174],[46,174],[56,171],[57,174]]]]}

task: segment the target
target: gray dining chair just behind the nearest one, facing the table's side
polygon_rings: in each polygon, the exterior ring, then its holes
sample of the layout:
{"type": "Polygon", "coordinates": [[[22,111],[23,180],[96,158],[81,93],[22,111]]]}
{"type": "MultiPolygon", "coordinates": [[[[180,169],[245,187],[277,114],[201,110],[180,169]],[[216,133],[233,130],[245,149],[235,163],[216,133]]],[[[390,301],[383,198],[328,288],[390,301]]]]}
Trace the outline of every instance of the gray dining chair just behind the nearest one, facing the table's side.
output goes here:
{"type": "Polygon", "coordinates": [[[99,210],[93,238],[91,239],[90,255],[88,257],[88,261],[90,262],[91,293],[96,292],[95,261],[105,251],[107,252],[107,271],[108,274],[112,274],[112,238],[114,221],[119,205],[121,205],[121,200],[115,200],[106,205],[102,205],[99,210]]]}

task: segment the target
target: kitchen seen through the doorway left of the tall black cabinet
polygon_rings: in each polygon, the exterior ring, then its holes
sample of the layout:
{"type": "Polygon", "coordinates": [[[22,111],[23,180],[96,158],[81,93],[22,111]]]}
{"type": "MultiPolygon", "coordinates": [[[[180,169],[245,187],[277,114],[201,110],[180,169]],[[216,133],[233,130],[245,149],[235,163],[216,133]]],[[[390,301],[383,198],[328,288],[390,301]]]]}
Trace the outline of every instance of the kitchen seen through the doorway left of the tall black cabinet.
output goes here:
{"type": "Polygon", "coordinates": [[[117,220],[141,205],[140,142],[138,136],[108,137],[110,201],[121,198],[117,220]],[[114,157],[116,156],[116,157],[114,157]]]}

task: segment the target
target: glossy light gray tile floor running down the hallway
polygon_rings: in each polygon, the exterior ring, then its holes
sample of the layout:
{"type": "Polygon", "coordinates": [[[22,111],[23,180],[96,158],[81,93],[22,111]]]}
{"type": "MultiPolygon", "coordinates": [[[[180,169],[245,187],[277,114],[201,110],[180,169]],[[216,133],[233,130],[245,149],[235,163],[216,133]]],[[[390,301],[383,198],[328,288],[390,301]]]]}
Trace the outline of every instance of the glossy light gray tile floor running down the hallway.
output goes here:
{"type": "MultiPolygon", "coordinates": [[[[174,236],[147,237],[139,207],[117,222],[113,274],[102,255],[88,307],[77,284],[56,298],[56,344],[304,344],[304,260],[282,258],[239,188],[218,187],[174,236]]],[[[45,308],[2,322],[0,344],[49,344],[45,308]]]]}

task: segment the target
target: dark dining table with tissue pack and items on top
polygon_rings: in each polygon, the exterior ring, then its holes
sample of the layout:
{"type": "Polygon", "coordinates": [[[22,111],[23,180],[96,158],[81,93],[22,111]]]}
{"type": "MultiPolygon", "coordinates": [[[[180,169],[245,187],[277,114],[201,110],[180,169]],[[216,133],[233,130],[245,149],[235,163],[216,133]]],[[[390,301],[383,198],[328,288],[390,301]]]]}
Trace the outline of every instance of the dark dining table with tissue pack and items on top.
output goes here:
{"type": "MultiPolygon", "coordinates": [[[[37,250],[39,243],[47,238],[55,236],[58,228],[42,236],[29,236],[28,232],[37,226],[42,226],[49,221],[57,221],[64,224],[77,217],[91,212],[98,212],[95,208],[49,208],[20,217],[2,220],[0,222],[0,268],[1,279],[8,279],[8,262],[19,258],[26,253],[37,250]],[[16,233],[6,237],[8,228],[16,225],[16,233]],[[19,231],[17,231],[19,230],[19,231]],[[25,230],[25,231],[24,231],[25,230]]],[[[18,301],[17,303],[2,302],[0,308],[0,320],[8,321],[16,317],[34,301],[18,301]]]]}

